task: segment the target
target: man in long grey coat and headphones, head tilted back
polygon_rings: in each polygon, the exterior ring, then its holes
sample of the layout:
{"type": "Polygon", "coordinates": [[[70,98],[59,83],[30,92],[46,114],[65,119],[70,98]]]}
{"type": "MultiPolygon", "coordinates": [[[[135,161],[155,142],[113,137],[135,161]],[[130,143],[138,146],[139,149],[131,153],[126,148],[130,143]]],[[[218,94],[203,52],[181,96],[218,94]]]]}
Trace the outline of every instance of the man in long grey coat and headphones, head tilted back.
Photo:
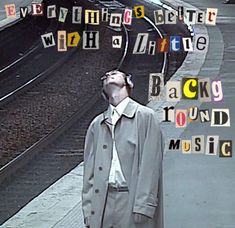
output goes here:
{"type": "Polygon", "coordinates": [[[132,100],[131,76],[105,74],[109,108],[90,124],[82,209],[90,228],[163,228],[163,139],[155,112],[132,100]]]}

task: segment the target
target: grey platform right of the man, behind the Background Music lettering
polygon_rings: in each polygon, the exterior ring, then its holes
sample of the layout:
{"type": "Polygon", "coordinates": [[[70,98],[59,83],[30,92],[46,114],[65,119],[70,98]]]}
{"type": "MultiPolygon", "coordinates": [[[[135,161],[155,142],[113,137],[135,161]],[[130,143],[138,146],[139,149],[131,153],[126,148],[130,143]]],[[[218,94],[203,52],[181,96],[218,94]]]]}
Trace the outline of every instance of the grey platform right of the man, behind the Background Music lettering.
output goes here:
{"type": "MultiPolygon", "coordinates": [[[[176,128],[175,123],[163,124],[167,139],[191,140],[192,136],[217,135],[221,140],[235,140],[235,4],[223,4],[221,0],[167,0],[172,6],[186,8],[217,8],[216,26],[194,26],[194,33],[209,36],[207,53],[189,53],[178,71],[170,79],[195,76],[221,80],[222,102],[181,100],[178,103],[153,102],[156,111],[163,106],[188,109],[197,106],[201,110],[230,110],[230,127],[211,127],[210,124],[190,123],[186,128],[176,128]],[[160,105],[160,106],[159,106],[160,105]],[[174,129],[174,130],[172,130],[174,129]]],[[[234,145],[233,145],[234,151],[234,145]]],[[[218,151],[217,151],[218,152],[218,151]]],[[[205,154],[182,154],[172,150],[164,156],[164,210],[166,228],[232,228],[235,227],[235,159],[205,154]]]]}

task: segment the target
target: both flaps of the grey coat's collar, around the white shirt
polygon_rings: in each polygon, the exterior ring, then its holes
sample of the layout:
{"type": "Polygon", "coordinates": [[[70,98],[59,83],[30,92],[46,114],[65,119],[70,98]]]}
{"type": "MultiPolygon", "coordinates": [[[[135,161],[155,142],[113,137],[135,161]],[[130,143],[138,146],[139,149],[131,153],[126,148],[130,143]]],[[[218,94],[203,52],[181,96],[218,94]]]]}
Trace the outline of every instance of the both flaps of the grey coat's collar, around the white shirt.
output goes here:
{"type": "MultiPolygon", "coordinates": [[[[137,105],[138,105],[137,102],[135,102],[134,100],[132,100],[130,98],[122,115],[126,116],[127,118],[133,118],[136,113],[137,105]]],[[[111,122],[111,107],[110,106],[108,107],[108,109],[106,111],[103,112],[103,118],[101,119],[101,123],[103,123],[104,121],[107,122],[108,124],[112,123],[111,122]]]]}

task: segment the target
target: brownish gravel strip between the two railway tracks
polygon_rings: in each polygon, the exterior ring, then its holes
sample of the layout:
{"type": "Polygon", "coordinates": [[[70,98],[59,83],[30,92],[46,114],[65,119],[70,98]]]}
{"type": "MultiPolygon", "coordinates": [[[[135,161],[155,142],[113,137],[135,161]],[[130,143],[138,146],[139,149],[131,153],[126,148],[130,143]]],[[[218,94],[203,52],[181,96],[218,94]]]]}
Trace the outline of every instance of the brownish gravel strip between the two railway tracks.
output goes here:
{"type": "MultiPolygon", "coordinates": [[[[104,28],[101,28],[101,32],[101,38],[104,39],[104,28]]],[[[101,43],[102,50],[107,49],[106,41],[101,43]]],[[[63,123],[98,92],[97,86],[93,86],[93,83],[100,84],[96,74],[103,73],[105,67],[115,67],[115,59],[119,59],[119,52],[106,55],[102,50],[96,52],[101,59],[105,56],[107,59],[113,58],[108,64],[96,61],[96,56],[92,57],[90,52],[78,50],[66,64],[40,83],[22,88],[25,91],[19,91],[20,95],[17,92],[10,94],[12,102],[0,107],[0,157],[3,155],[0,167],[63,123]],[[91,69],[86,64],[93,64],[94,67],[91,69]]]]}

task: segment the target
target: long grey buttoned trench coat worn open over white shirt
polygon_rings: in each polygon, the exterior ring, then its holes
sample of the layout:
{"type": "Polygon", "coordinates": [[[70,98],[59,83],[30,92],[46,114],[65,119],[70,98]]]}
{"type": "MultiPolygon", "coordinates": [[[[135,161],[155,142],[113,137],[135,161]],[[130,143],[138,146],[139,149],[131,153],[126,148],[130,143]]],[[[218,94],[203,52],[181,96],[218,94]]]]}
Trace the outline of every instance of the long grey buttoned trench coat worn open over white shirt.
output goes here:
{"type": "MultiPolygon", "coordinates": [[[[112,159],[110,123],[108,109],[92,121],[85,140],[82,209],[90,228],[101,228],[112,159]]],[[[163,228],[163,139],[155,112],[130,100],[114,132],[129,189],[122,228],[163,228]],[[151,219],[137,225],[130,219],[133,212],[151,219]]]]}

